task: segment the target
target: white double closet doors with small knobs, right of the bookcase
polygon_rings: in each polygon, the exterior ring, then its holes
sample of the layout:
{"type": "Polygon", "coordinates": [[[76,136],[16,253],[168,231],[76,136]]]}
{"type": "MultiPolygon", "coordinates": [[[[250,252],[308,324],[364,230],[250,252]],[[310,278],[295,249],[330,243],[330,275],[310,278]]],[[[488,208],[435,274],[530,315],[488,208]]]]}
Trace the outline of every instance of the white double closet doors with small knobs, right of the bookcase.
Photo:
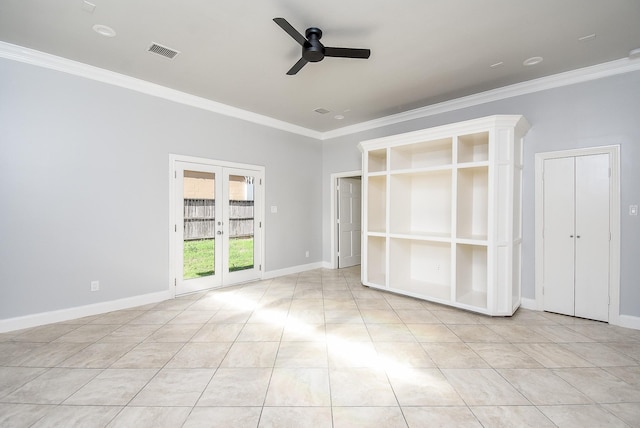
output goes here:
{"type": "Polygon", "coordinates": [[[609,155],[544,161],[544,310],[609,319],[609,155]]]}

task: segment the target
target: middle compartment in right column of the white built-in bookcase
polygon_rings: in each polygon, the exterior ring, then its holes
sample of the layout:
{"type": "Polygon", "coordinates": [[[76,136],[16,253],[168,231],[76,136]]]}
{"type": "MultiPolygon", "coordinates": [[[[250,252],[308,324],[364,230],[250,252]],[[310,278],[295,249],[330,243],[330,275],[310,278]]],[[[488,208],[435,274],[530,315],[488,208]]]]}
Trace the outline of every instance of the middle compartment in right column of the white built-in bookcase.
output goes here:
{"type": "Polygon", "coordinates": [[[486,240],[489,222],[489,169],[458,169],[457,231],[462,239],[486,240]]]}

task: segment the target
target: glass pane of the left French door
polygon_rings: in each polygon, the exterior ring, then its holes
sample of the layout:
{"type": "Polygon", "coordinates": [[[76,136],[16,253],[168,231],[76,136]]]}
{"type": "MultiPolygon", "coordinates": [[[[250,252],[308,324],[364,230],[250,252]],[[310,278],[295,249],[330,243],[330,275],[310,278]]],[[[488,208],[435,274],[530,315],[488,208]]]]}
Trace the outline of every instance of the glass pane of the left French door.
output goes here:
{"type": "Polygon", "coordinates": [[[215,273],[215,174],[184,171],[183,278],[215,273]]]}

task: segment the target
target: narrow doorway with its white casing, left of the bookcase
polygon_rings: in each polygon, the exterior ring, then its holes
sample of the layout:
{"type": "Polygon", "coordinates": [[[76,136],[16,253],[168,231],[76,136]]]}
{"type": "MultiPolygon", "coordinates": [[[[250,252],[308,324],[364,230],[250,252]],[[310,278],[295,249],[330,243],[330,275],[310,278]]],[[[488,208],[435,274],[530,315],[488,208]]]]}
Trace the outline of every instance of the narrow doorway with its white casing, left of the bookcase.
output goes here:
{"type": "Polygon", "coordinates": [[[331,175],[331,267],[360,264],[362,251],[362,173],[331,175]]]}

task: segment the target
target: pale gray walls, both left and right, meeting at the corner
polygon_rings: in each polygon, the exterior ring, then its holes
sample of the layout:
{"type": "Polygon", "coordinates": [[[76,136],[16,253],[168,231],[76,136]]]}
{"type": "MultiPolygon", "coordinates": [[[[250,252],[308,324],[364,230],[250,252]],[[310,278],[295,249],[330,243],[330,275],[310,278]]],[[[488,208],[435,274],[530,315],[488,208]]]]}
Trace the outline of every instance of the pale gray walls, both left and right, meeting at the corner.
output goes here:
{"type": "Polygon", "coordinates": [[[640,203],[640,72],[319,142],[0,59],[0,319],[167,290],[169,153],[265,166],[265,267],[275,271],[331,259],[329,177],[360,169],[359,141],[492,114],[523,114],[533,126],[525,142],[528,298],[534,154],[621,145],[620,308],[640,316],[640,217],[628,216],[640,203]],[[94,279],[98,293],[89,291],[94,279]]]}

